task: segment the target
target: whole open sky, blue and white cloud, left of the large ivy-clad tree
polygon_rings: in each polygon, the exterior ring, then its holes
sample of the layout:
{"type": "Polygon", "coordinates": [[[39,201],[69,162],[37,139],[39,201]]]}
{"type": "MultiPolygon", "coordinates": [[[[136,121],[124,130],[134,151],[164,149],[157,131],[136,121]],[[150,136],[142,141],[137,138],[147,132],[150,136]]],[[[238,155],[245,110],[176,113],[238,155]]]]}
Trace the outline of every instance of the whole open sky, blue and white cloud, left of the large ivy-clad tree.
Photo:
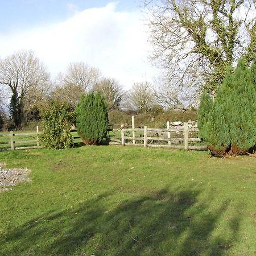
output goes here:
{"type": "Polygon", "coordinates": [[[141,0],[0,0],[0,57],[32,49],[52,77],[84,61],[125,88],[152,81],[141,0]]]}

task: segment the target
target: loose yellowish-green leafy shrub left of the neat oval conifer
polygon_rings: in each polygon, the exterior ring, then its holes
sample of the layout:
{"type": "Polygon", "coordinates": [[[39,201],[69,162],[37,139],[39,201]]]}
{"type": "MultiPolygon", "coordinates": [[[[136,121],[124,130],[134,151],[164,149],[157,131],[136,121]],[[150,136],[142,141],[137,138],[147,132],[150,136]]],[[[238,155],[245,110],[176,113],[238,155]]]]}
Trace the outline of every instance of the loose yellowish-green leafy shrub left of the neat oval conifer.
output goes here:
{"type": "Polygon", "coordinates": [[[51,102],[41,113],[42,135],[40,140],[46,148],[69,148],[73,146],[71,125],[74,113],[68,105],[51,102]]]}

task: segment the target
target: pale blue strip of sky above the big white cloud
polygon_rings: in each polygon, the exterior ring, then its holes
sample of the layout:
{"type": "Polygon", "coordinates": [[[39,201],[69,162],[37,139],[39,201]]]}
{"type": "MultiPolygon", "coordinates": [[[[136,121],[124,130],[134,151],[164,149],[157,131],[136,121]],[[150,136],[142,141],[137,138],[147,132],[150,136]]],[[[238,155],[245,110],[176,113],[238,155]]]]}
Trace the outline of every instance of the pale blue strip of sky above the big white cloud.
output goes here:
{"type": "Polygon", "coordinates": [[[61,22],[75,11],[104,7],[110,2],[116,2],[119,11],[132,11],[142,4],[141,0],[0,0],[0,2],[2,33],[61,22]]]}

